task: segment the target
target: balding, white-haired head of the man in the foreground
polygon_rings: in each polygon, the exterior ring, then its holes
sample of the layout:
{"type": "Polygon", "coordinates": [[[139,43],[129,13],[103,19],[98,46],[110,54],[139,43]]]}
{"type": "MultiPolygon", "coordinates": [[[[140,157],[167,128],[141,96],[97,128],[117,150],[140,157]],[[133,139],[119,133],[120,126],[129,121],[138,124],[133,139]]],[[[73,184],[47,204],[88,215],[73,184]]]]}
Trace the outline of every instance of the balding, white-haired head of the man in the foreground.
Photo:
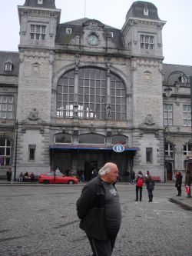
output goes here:
{"type": "Polygon", "coordinates": [[[106,163],[100,170],[99,175],[101,175],[101,179],[108,183],[114,183],[118,179],[118,166],[114,163],[108,162],[106,163]]]}

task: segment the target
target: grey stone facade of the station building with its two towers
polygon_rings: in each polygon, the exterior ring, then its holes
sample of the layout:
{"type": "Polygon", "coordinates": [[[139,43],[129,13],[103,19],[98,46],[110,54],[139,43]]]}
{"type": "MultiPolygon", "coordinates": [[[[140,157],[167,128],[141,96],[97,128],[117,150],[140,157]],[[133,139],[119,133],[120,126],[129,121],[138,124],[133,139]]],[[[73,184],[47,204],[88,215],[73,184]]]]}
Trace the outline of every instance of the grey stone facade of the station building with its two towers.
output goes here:
{"type": "MultiPolygon", "coordinates": [[[[167,77],[175,71],[175,66],[163,64],[162,29],[165,22],[158,18],[153,4],[134,2],[121,30],[88,18],[59,24],[61,10],[49,0],[42,5],[36,0],[25,2],[18,6],[18,14],[19,62],[13,65],[18,67],[18,73],[15,69],[9,74],[1,71],[0,81],[0,95],[15,95],[13,109],[16,111],[10,120],[0,118],[0,127],[1,137],[12,141],[10,165],[16,177],[21,171],[39,174],[57,167],[62,172],[67,168],[74,172],[78,168],[87,168],[89,172],[93,165],[101,168],[105,161],[118,164],[122,180],[125,180],[127,170],[133,169],[144,174],[149,170],[152,175],[160,176],[161,181],[174,178],[174,170],[184,171],[184,145],[190,141],[191,131],[189,125],[184,126],[183,105],[190,105],[190,87],[182,84],[178,89],[172,84],[171,97],[165,97],[167,77]],[[102,118],[93,118],[95,113],[87,113],[87,118],[81,118],[80,101],[84,95],[80,96],[79,74],[86,68],[105,72],[106,95],[103,98],[106,104],[94,102],[94,106],[101,107],[101,112],[106,111],[102,118]],[[74,72],[71,78],[73,98],[68,99],[72,103],[66,106],[66,113],[71,113],[67,117],[63,116],[64,107],[58,108],[58,86],[65,88],[63,75],[70,71],[74,72]],[[118,111],[119,105],[117,99],[113,103],[111,95],[112,75],[117,86],[118,82],[124,85],[122,91],[125,90],[125,94],[120,99],[121,102],[126,100],[126,118],[122,118],[122,113],[119,113],[121,118],[113,116],[117,114],[113,108],[118,111]],[[173,124],[168,125],[168,131],[164,125],[164,104],[173,106],[173,124]],[[62,116],[58,118],[58,114],[62,116]],[[60,134],[71,136],[71,143],[57,144],[56,136],[60,134]],[[80,145],[84,134],[103,136],[104,143],[93,148],[89,148],[94,144],[91,141],[88,145],[80,145]],[[123,153],[112,151],[114,144],[111,141],[115,136],[127,140],[123,153]],[[174,146],[171,159],[164,155],[166,143],[174,146]],[[32,159],[30,148],[35,154],[32,159]],[[169,177],[167,168],[171,169],[169,177]]],[[[5,61],[8,58],[5,56],[5,61]]],[[[178,68],[184,71],[184,67],[178,68]]],[[[192,68],[188,67],[187,76],[190,74],[192,68]]],[[[89,80],[91,83],[91,78],[89,80]]],[[[70,78],[68,81],[70,98],[70,78]]],[[[118,88],[115,94],[118,97],[118,88]]],[[[91,105],[91,95],[87,97],[90,97],[88,104],[91,105]]],[[[96,89],[92,97],[97,98],[96,89]]],[[[124,108],[121,106],[121,109],[124,108]]],[[[3,165],[2,175],[5,169],[6,165],[3,165]]]]}

